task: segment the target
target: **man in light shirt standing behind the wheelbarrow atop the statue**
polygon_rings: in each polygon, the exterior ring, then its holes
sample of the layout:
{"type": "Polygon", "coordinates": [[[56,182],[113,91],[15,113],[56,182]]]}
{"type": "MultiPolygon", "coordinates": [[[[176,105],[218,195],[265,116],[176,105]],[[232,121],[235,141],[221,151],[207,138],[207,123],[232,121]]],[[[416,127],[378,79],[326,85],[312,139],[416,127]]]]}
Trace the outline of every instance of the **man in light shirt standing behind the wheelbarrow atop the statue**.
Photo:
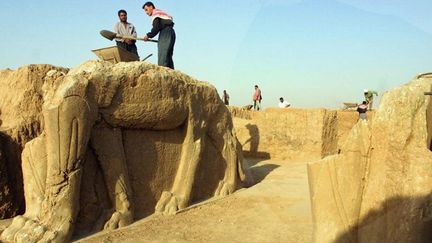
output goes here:
{"type": "MultiPolygon", "coordinates": [[[[137,37],[137,33],[135,30],[135,26],[133,24],[127,22],[127,12],[124,9],[120,9],[117,12],[120,22],[114,25],[114,32],[119,35],[127,35],[132,37],[137,37]]],[[[116,38],[116,43],[118,47],[125,49],[128,52],[132,52],[133,54],[138,56],[138,50],[135,45],[135,40],[129,39],[120,39],[116,38]]]]}

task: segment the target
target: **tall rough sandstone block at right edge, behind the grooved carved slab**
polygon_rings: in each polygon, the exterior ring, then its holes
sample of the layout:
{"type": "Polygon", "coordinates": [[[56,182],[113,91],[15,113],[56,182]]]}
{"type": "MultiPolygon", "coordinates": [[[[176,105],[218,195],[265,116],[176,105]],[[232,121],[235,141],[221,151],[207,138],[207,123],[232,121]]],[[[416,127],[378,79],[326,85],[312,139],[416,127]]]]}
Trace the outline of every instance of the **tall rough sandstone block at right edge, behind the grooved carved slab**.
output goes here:
{"type": "Polygon", "coordinates": [[[388,92],[372,126],[359,241],[430,242],[432,77],[388,92]]]}

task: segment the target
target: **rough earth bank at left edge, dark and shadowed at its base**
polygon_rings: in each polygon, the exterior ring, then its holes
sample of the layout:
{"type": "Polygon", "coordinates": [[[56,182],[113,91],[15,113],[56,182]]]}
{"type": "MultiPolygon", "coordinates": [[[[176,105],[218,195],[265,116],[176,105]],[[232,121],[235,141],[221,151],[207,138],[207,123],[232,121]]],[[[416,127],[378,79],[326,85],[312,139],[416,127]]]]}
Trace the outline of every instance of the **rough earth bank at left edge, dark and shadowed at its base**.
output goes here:
{"type": "Polygon", "coordinates": [[[0,70],[0,140],[4,166],[0,174],[4,175],[2,179],[8,178],[7,189],[0,189],[0,194],[7,194],[8,200],[12,200],[6,203],[0,197],[0,207],[9,212],[0,213],[0,219],[24,211],[21,152],[42,131],[42,86],[46,80],[55,78],[53,71],[67,73],[68,69],[28,65],[17,70],[0,70]]]}

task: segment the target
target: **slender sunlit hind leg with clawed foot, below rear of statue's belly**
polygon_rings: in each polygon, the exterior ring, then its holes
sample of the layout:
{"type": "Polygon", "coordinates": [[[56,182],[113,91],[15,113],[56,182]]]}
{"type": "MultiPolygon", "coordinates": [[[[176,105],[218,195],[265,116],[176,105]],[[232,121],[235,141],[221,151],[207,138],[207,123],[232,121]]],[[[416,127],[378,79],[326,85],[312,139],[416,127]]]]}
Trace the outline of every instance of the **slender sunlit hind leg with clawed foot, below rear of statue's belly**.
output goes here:
{"type": "Polygon", "coordinates": [[[199,121],[187,121],[186,136],[181,151],[180,165],[170,192],[164,191],[156,205],[156,212],[175,214],[189,206],[195,173],[203,150],[205,134],[199,121]]]}

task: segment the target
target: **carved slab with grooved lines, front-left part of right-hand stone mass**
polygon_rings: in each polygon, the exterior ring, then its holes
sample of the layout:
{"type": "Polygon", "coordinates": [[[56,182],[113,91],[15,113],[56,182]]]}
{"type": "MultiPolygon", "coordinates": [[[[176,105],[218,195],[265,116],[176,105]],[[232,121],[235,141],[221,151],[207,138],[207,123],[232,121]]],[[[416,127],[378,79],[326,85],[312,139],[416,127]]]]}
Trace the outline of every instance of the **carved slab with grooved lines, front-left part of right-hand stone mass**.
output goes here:
{"type": "MultiPolygon", "coordinates": [[[[358,224],[368,156],[369,126],[360,121],[340,154],[308,165],[315,242],[335,242],[358,224]]],[[[348,239],[356,242],[352,236],[348,239]]]]}

